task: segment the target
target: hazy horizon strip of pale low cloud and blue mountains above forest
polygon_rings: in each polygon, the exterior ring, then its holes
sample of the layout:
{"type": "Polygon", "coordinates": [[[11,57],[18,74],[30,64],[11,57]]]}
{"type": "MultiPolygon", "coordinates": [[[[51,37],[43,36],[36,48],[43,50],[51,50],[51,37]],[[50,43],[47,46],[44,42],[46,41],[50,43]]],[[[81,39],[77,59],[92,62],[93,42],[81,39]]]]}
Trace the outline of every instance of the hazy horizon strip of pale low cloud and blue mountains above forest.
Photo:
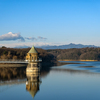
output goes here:
{"type": "Polygon", "coordinates": [[[0,47],[8,47],[8,48],[28,48],[28,47],[32,47],[32,46],[35,46],[36,48],[43,48],[43,49],[56,49],[55,47],[60,47],[59,49],[68,49],[68,48],[85,48],[85,47],[99,47],[99,46],[96,46],[96,45],[84,45],[84,44],[75,44],[75,43],[69,43],[69,44],[43,44],[43,45],[38,45],[38,44],[35,44],[33,45],[33,43],[29,43],[29,44],[13,44],[12,46],[10,45],[0,45],[0,47]],[[78,46],[78,47],[77,47],[78,46]],[[54,48],[52,48],[54,47],[54,48]],[[67,48],[68,47],[68,48],[67,48]]]}

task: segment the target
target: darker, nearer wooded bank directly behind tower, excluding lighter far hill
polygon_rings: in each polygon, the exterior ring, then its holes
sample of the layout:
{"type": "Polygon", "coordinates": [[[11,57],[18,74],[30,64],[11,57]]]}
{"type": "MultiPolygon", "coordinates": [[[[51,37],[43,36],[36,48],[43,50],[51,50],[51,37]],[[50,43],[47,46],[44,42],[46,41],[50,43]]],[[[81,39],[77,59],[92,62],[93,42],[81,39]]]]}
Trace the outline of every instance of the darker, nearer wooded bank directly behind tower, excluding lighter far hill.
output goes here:
{"type": "MultiPolygon", "coordinates": [[[[0,59],[15,59],[15,60],[25,60],[26,54],[30,48],[15,49],[15,48],[0,48],[0,59]]],[[[43,62],[54,62],[56,57],[48,53],[46,50],[37,49],[40,58],[43,62]]]]}

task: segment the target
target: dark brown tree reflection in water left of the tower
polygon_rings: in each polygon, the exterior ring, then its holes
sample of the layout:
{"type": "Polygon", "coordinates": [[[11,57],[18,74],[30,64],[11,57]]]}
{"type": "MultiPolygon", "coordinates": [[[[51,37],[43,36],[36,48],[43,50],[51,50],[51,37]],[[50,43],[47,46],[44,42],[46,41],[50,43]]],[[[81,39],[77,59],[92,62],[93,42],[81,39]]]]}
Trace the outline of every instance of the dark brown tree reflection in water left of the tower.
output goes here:
{"type": "Polygon", "coordinates": [[[26,77],[26,68],[24,67],[1,67],[0,80],[23,79],[26,77]]]}

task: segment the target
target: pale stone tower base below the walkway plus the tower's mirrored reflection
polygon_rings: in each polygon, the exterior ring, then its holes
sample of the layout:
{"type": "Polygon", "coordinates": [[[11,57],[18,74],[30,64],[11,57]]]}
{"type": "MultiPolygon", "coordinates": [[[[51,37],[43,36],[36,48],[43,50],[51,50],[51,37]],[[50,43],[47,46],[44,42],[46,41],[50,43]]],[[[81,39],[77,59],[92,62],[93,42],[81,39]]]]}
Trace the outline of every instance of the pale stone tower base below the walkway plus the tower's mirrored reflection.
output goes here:
{"type": "Polygon", "coordinates": [[[39,91],[40,86],[40,65],[39,63],[30,63],[26,68],[26,90],[34,98],[36,93],[39,91]]]}

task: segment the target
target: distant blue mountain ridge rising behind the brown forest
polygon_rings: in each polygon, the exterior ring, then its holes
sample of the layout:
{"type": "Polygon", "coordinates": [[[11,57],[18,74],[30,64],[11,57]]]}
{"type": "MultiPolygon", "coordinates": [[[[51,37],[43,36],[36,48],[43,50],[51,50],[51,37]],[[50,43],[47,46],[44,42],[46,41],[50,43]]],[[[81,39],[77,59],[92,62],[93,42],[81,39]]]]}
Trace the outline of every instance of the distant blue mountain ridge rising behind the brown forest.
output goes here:
{"type": "MultiPolygon", "coordinates": [[[[15,48],[28,48],[29,46],[20,46],[20,47],[15,47],[15,48]]],[[[37,46],[36,48],[42,48],[42,49],[45,49],[45,50],[48,50],[48,49],[70,49],[70,48],[86,48],[86,47],[94,47],[94,48],[97,48],[98,46],[95,46],[95,45],[82,45],[82,44],[74,44],[74,43],[70,43],[68,45],[59,45],[59,46],[37,46]]]]}

